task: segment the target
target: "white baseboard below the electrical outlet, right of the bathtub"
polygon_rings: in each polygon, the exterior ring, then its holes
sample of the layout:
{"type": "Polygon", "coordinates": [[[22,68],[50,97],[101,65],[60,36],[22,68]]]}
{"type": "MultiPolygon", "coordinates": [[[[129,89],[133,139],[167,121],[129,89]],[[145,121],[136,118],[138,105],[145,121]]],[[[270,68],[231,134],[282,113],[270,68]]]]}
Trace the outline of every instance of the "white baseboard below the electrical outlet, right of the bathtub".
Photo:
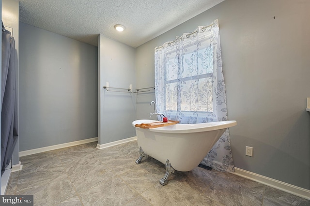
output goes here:
{"type": "Polygon", "coordinates": [[[310,200],[310,190],[300,188],[300,187],[297,187],[297,186],[294,186],[294,185],[291,185],[285,182],[281,182],[276,179],[265,177],[265,176],[262,176],[256,173],[252,173],[252,172],[249,172],[247,170],[243,170],[237,167],[235,167],[234,170],[235,172],[232,172],[232,174],[235,174],[237,176],[244,177],[244,178],[253,180],[255,182],[262,183],[269,187],[276,188],[280,191],[285,191],[287,193],[294,194],[298,197],[302,197],[307,200],[310,200]]]}

